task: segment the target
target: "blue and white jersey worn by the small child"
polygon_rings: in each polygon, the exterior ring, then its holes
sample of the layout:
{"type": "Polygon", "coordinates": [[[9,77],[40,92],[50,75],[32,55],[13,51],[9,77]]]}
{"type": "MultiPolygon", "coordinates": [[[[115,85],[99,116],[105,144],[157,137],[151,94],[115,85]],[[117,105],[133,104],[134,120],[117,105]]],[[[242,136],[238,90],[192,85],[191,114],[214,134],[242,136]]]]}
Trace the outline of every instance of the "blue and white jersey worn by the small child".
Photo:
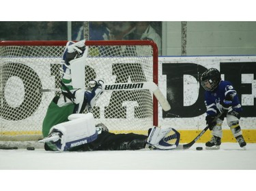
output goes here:
{"type": "Polygon", "coordinates": [[[238,95],[236,94],[236,90],[233,88],[231,82],[221,80],[220,84],[218,84],[218,87],[214,91],[205,91],[206,114],[215,116],[221,112],[223,101],[229,97],[229,95],[233,96],[233,111],[242,111],[238,95]]]}

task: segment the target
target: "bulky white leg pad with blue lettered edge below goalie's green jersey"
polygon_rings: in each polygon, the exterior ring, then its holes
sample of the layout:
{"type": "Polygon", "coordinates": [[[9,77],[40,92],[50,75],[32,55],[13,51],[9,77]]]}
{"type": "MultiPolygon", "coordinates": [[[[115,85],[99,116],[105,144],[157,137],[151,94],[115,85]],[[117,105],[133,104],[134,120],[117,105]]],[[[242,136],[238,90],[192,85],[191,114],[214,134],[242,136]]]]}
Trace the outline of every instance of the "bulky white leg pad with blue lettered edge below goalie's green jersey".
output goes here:
{"type": "Polygon", "coordinates": [[[70,121],[53,126],[48,137],[39,142],[50,142],[55,147],[53,150],[62,152],[94,141],[101,132],[101,129],[96,128],[94,116],[91,113],[72,114],[68,116],[68,120],[70,121]]]}

